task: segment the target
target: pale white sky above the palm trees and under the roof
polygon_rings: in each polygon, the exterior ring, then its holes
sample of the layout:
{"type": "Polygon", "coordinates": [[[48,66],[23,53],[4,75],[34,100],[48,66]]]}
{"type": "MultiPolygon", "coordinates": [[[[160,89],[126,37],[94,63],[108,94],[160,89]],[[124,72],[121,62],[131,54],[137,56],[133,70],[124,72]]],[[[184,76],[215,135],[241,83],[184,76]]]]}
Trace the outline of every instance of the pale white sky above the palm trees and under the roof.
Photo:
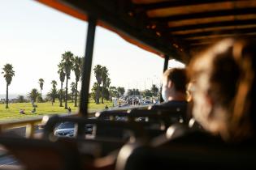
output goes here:
{"type": "MultiPolygon", "coordinates": [[[[85,56],[87,23],[31,0],[1,0],[0,6],[0,72],[10,63],[15,77],[9,93],[27,95],[39,88],[42,94],[51,89],[50,82],[59,83],[58,64],[61,55],[71,51],[85,56]]],[[[163,71],[163,58],[131,45],[114,32],[97,27],[93,49],[93,66],[106,66],[111,86],[144,90],[152,84],[158,87],[163,71]]],[[[170,61],[169,66],[183,66],[170,61]]],[[[71,75],[69,83],[75,80],[71,75]]],[[[96,82],[93,72],[90,84],[96,82]]],[[[0,94],[5,94],[6,81],[0,74],[0,94]]]]}

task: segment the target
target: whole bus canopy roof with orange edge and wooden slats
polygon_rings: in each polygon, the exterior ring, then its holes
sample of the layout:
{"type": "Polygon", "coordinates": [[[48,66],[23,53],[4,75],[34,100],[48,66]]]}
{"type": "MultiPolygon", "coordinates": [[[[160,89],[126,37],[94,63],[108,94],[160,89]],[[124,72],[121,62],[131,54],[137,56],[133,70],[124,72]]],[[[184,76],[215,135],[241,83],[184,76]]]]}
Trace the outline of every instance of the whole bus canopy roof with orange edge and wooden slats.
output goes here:
{"type": "Polygon", "coordinates": [[[189,62],[224,37],[256,37],[256,0],[37,0],[160,56],[189,62]]]}

